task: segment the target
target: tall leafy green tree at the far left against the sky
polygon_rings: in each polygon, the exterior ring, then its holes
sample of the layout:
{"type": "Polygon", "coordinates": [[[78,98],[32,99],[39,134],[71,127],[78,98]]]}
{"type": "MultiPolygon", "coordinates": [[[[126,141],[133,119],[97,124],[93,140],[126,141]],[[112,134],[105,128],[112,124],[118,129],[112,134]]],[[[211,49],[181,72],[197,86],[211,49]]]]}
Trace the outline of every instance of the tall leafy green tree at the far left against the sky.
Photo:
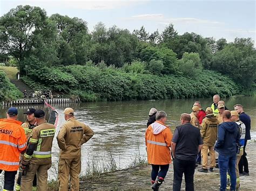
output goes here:
{"type": "Polygon", "coordinates": [[[46,12],[39,7],[19,5],[0,18],[0,48],[21,61],[36,44],[34,34],[51,32],[46,22],[46,12]]]}

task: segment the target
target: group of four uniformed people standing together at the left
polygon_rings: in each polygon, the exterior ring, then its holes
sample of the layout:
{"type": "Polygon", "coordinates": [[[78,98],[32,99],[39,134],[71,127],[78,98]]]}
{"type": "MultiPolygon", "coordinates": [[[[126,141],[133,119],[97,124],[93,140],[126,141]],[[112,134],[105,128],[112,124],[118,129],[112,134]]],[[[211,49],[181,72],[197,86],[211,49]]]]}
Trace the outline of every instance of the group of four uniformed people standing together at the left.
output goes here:
{"type": "MultiPolygon", "coordinates": [[[[48,169],[51,167],[52,141],[55,126],[47,123],[45,112],[29,108],[27,121],[17,121],[18,110],[11,107],[5,119],[0,119],[0,173],[4,171],[4,191],[16,190],[45,191],[47,188],[48,169]]],[[[60,148],[58,163],[59,190],[79,190],[81,170],[81,145],[92,136],[89,126],[75,118],[72,108],[64,110],[65,123],[57,135],[60,148]]]]}

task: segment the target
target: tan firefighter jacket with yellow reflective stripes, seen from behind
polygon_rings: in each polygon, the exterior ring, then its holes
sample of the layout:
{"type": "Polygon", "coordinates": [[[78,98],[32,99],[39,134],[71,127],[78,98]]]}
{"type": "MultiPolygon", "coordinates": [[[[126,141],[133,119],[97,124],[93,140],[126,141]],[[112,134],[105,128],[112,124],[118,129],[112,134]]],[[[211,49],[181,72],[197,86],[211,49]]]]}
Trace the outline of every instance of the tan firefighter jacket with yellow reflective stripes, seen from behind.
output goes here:
{"type": "Polygon", "coordinates": [[[32,129],[29,146],[23,155],[22,164],[51,164],[51,147],[55,135],[55,126],[50,123],[38,124],[32,129]]]}

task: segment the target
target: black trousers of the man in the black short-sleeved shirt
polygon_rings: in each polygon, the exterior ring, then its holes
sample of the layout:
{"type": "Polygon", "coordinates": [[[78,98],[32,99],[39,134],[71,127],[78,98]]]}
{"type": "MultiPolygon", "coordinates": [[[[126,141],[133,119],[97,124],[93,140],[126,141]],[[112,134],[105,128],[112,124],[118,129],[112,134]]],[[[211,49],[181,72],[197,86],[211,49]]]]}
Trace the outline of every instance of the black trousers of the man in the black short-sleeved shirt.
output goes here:
{"type": "Polygon", "coordinates": [[[182,176],[184,173],[186,191],[194,191],[194,169],[196,168],[196,160],[180,160],[174,158],[173,161],[173,191],[180,191],[182,176]]]}

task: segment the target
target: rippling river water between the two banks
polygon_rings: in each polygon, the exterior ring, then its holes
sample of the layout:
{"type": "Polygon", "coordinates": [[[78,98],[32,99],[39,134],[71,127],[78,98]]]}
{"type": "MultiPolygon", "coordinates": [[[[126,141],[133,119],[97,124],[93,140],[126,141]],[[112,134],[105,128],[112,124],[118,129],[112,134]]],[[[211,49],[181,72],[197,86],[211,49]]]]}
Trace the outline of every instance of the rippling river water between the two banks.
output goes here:
{"type": "MultiPolygon", "coordinates": [[[[96,161],[97,164],[106,165],[114,160],[117,167],[126,168],[131,164],[138,154],[146,157],[144,134],[149,110],[152,107],[164,110],[167,113],[167,125],[174,128],[180,124],[180,115],[184,112],[190,113],[194,101],[199,100],[203,109],[212,103],[211,98],[179,99],[179,100],[157,100],[157,101],[122,101],[122,102],[97,102],[97,103],[73,103],[53,105],[59,112],[59,127],[65,122],[63,111],[66,107],[75,110],[75,116],[79,121],[89,125],[95,132],[89,142],[82,146],[82,173],[86,173],[88,162],[96,161]]],[[[226,107],[230,110],[233,105],[240,103],[245,112],[252,119],[252,138],[256,138],[256,97],[226,98],[226,107]]],[[[18,119],[25,120],[22,115],[29,107],[45,109],[44,105],[19,105],[18,119]]],[[[0,118],[5,117],[8,107],[0,108],[0,118]]],[[[56,133],[57,134],[57,133],[56,133]]],[[[59,148],[56,138],[53,141],[52,161],[57,167],[59,148]]],[[[105,166],[106,167],[106,166],[105,166]]],[[[51,169],[54,173],[55,168],[51,169]]],[[[50,174],[51,174],[50,173],[50,174]]]]}

